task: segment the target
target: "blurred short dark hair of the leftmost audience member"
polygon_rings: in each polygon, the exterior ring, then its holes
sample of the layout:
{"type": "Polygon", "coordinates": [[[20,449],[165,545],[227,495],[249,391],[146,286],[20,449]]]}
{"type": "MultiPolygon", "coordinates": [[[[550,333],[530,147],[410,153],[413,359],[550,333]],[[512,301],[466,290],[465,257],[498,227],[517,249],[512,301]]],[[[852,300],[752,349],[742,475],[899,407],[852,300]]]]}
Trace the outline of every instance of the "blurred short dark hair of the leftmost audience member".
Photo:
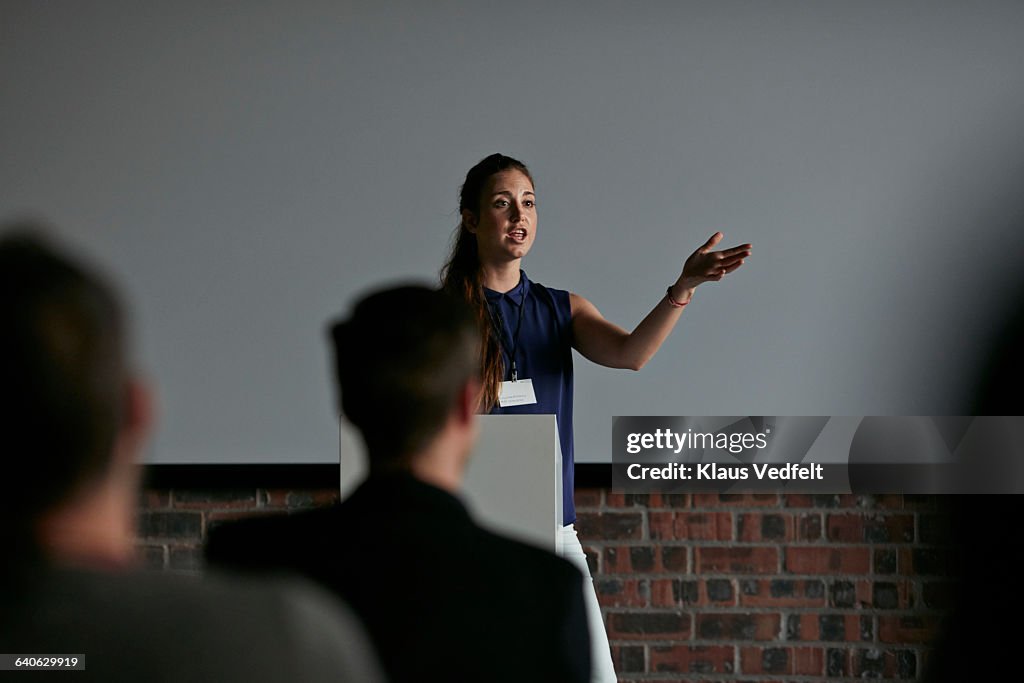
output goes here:
{"type": "Polygon", "coordinates": [[[0,237],[0,525],[16,531],[106,473],[127,383],[114,290],[40,233],[0,237]]]}

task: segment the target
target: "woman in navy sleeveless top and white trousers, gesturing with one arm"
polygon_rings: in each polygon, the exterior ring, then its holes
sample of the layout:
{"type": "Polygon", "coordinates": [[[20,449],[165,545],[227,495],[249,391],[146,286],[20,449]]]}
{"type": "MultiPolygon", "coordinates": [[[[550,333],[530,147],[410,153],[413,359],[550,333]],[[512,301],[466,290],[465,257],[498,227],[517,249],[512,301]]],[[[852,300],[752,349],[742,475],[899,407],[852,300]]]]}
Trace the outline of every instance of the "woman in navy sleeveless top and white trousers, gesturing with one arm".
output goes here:
{"type": "MultiPolygon", "coordinates": [[[[554,414],[562,452],[562,548],[590,577],[577,538],[572,499],[572,349],[607,368],[639,370],[669,336],[696,287],[718,282],[751,254],[751,245],[713,251],[711,236],[633,330],[606,321],[590,301],[532,282],[521,269],[537,238],[537,195],[526,166],[490,155],[466,174],[442,287],[474,308],[483,338],[480,410],[554,414]]],[[[607,635],[593,582],[587,586],[595,681],[614,681],[607,635]]]]}

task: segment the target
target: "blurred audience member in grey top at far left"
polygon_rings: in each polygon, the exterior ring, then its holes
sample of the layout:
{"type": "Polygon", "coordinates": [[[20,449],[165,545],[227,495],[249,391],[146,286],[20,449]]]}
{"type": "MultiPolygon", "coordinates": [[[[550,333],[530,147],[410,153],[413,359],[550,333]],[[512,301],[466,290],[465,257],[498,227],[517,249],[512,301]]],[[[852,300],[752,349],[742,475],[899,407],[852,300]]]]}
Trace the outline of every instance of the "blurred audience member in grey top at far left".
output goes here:
{"type": "Polygon", "coordinates": [[[23,227],[0,233],[0,652],[84,655],[76,681],[381,680],[322,589],[131,568],[152,409],[125,318],[23,227]]]}

